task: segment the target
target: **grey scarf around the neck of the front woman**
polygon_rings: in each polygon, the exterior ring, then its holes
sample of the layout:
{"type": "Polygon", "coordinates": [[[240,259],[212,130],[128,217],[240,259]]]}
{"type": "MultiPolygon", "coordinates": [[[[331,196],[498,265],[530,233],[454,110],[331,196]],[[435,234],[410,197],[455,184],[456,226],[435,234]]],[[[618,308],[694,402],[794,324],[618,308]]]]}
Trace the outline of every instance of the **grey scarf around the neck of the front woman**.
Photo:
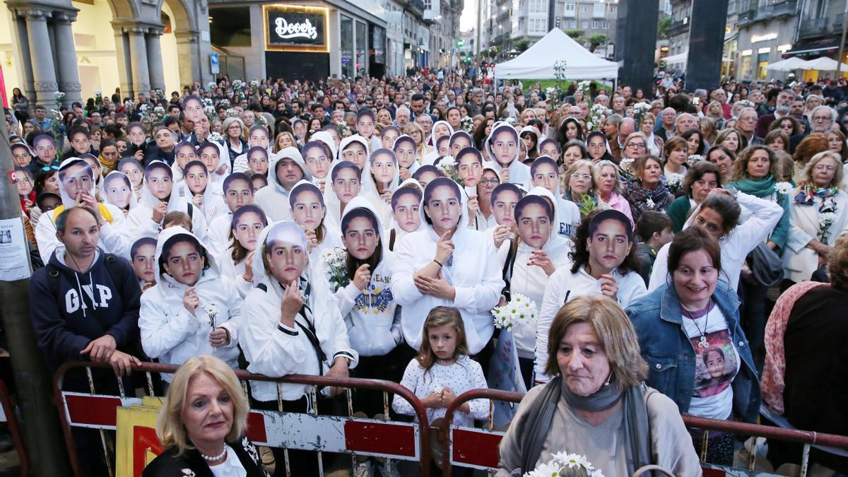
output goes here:
{"type": "MultiPolygon", "coordinates": [[[[535,469],[542,455],[544,441],[548,436],[556,406],[562,398],[566,405],[581,411],[598,412],[609,409],[622,401],[624,418],[624,448],[628,457],[628,474],[652,462],[650,452],[650,424],[646,402],[652,390],[644,384],[630,386],[621,390],[615,379],[605,384],[592,396],[576,396],[568,389],[561,376],[551,379],[536,401],[531,403],[525,432],[522,436],[522,472],[535,469]]],[[[571,452],[569,449],[556,449],[552,452],[571,452]]]]}

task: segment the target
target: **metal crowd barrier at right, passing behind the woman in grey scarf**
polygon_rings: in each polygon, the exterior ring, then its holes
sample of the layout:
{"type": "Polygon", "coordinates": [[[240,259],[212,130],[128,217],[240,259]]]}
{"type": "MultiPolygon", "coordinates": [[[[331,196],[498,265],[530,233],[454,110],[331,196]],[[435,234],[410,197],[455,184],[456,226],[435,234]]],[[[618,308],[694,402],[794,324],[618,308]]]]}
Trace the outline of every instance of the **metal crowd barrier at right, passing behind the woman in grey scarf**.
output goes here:
{"type": "MultiPolygon", "coordinates": [[[[523,397],[524,395],[521,393],[506,392],[502,390],[470,390],[460,396],[457,396],[456,399],[450,403],[447,412],[445,412],[442,428],[438,429],[440,441],[444,446],[443,455],[445,457],[449,457],[444,458],[442,463],[442,477],[450,477],[451,465],[487,470],[490,473],[498,469],[498,445],[505,433],[492,430],[491,417],[488,423],[488,429],[470,428],[452,424],[454,413],[460,406],[473,399],[488,399],[490,402],[507,401],[518,403],[522,401],[523,397]]],[[[711,430],[732,433],[735,435],[765,437],[775,441],[789,441],[803,444],[803,454],[801,456],[801,477],[806,477],[807,474],[810,446],[816,446],[817,448],[827,446],[835,449],[848,450],[848,436],[845,435],[823,434],[813,431],[784,429],[760,424],[747,424],[736,421],[698,418],[690,416],[689,414],[683,414],[683,424],[686,424],[688,429],[700,429],[704,431],[703,448],[700,454],[700,461],[702,466],[707,465],[704,467],[705,475],[717,475],[715,472],[717,466],[710,466],[705,462],[706,446],[709,441],[709,431],[711,430]]],[[[754,470],[756,458],[756,439],[753,440],[753,442],[754,445],[750,449],[750,460],[748,462],[749,471],[754,470]]]]}

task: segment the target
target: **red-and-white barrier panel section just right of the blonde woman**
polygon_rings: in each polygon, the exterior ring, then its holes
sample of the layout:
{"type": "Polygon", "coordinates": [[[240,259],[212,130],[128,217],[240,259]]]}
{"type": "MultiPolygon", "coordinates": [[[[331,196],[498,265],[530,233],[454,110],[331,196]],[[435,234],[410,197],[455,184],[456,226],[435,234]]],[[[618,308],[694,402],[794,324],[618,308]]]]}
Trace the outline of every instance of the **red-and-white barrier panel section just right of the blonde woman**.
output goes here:
{"type": "Polygon", "coordinates": [[[375,419],[251,411],[248,438],[259,446],[420,460],[417,424],[375,419]]]}

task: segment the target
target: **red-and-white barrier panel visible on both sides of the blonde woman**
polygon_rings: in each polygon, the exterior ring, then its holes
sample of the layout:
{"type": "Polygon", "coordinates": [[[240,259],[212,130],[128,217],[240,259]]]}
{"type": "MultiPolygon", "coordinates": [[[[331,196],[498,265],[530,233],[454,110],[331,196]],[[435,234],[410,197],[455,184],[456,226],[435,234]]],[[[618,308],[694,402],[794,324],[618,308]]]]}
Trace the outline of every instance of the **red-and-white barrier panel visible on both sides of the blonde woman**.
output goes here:
{"type": "MultiPolygon", "coordinates": [[[[117,407],[141,405],[135,397],[63,392],[65,416],[73,427],[115,429],[117,407]]],[[[417,424],[375,419],[313,416],[293,412],[251,410],[248,438],[260,446],[418,461],[421,436],[417,424]]],[[[497,463],[497,462],[496,462],[497,463]]]]}

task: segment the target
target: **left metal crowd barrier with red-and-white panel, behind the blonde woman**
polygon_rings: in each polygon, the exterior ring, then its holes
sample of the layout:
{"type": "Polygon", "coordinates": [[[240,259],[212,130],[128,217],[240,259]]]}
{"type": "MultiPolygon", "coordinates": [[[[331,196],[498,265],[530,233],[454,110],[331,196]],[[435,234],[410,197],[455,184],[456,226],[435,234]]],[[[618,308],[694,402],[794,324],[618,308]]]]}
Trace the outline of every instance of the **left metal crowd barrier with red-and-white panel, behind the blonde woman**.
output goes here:
{"type": "MultiPolygon", "coordinates": [[[[98,429],[103,444],[103,454],[106,457],[109,475],[114,475],[114,450],[110,447],[109,433],[116,429],[117,407],[140,405],[141,398],[126,396],[120,383],[120,396],[98,395],[94,389],[92,368],[108,368],[108,364],[93,362],[66,363],[56,373],[54,379],[54,398],[59,409],[59,421],[62,424],[64,439],[68,446],[71,467],[77,477],[84,475],[80,457],[71,428],[98,429]],[[79,393],[62,390],[64,376],[75,368],[85,368],[88,375],[90,393],[79,393]]],[[[153,379],[151,373],[174,373],[179,368],[176,365],[159,363],[142,363],[133,367],[134,372],[145,373],[148,380],[148,395],[153,396],[153,379]]],[[[248,414],[248,438],[256,446],[282,447],[284,449],[300,449],[319,453],[321,467],[321,452],[346,453],[352,456],[352,464],[356,466],[357,456],[380,457],[385,459],[385,466],[391,474],[393,461],[404,460],[420,464],[421,475],[430,473],[430,427],[427,424],[427,410],[412,391],[397,383],[376,379],[329,378],[326,376],[306,376],[290,374],[282,378],[269,378],[259,374],[236,371],[243,386],[247,381],[265,381],[277,383],[279,411],[251,409],[248,414]],[[279,384],[307,384],[311,386],[312,402],[318,387],[333,386],[347,390],[348,416],[319,415],[317,405],[311,406],[310,413],[282,412],[282,400],[279,399],[279,384]],[[353,413],[352,389],[382,390],[383,407],[388,416],[389,393],[401,396],[415,409],[417,423],[389,422],[368,418],[352,418],[353,413]],[[288,432],[296,429],[297,434],[288,432]]],[[[276,463],[282,465],[282,463],[276,463]]],[[[324,469],[318,469],[324,474],[324,469]]],[[[289,474],[287,469],[287,475],[289,474]]],[[[299,477],[299,476],[298,476],[299,477]]]]}

